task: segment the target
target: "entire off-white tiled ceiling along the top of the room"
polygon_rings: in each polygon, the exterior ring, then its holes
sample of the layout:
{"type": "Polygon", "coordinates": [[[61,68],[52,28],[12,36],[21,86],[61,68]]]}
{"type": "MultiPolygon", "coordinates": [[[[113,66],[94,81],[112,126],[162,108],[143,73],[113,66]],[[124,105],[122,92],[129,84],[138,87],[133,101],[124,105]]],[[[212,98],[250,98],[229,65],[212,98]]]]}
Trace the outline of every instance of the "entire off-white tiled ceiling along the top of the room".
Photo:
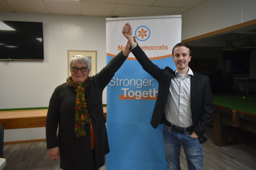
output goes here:
{"type": "Polygon", "coordinates": [[[203,1],[205,0],[0,0],[0,11],[123,17],[181,15],[187,8],[203,1]]]}

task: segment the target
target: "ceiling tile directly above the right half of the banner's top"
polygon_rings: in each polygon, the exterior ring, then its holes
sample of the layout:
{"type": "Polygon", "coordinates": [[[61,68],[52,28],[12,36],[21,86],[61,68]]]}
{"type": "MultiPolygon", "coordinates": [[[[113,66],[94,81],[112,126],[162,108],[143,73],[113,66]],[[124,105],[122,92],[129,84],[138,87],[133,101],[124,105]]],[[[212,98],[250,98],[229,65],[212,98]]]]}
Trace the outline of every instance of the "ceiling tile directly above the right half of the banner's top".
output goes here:
{"type": "Polygon", "coordinates": [[[159,15],[171,15],[171,13],[175,12],[179,8],[166,8],[166,7],[149,7],[145,12],[143,12],[142,16],[159,16],[159,15]]]}

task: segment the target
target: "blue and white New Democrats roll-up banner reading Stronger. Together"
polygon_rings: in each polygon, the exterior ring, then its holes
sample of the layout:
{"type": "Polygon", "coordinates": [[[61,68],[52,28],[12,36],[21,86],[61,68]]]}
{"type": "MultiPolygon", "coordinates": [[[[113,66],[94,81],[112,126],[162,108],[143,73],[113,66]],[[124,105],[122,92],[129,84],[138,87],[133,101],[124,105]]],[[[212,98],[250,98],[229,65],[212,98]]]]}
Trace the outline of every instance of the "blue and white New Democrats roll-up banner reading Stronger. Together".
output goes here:
{"type": "MultiPolygon", "coordinates": [[[[181,42],[181,15],[106,19],[107,63],[127,42],[122,35],[127,22],[149,59],[175,70],[171,53],[181,42]]],[[[157,92],[158,82],[130,53],[107,86],[106,170],[167,169],[163,125],[150,125],[157,92]]]]}

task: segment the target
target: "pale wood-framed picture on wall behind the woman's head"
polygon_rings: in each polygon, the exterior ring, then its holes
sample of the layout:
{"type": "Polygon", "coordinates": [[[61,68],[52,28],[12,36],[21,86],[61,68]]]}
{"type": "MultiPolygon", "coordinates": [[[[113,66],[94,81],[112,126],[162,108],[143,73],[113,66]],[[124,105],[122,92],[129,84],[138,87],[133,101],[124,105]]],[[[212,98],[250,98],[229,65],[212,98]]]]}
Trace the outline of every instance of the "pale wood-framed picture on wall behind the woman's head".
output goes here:
{"type": "Polygon", "coordinates": [[[97,68],[96,68],[96,58],[97,58],[97,51],[91,50],[67,50],[67,77],[70,77],[70,70],[69,70],[69,61],[75,55],[82,55],[89,57],[91,59],[91,72],[89,76],[95,75],[97,68]]]}

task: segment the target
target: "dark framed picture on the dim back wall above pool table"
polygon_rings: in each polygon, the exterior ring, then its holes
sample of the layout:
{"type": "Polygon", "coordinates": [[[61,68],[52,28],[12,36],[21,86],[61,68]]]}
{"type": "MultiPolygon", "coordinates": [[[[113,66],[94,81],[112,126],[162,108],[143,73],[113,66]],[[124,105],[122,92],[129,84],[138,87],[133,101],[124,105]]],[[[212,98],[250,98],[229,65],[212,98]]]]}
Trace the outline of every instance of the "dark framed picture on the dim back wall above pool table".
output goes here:
{"type": "Polygon", "coordinates": [[[245,76],[249,77],[250,72],[250,58],[244,57],[244,58],[237,58],[230,60],[230,73],[233,76],[245,76]]]}

